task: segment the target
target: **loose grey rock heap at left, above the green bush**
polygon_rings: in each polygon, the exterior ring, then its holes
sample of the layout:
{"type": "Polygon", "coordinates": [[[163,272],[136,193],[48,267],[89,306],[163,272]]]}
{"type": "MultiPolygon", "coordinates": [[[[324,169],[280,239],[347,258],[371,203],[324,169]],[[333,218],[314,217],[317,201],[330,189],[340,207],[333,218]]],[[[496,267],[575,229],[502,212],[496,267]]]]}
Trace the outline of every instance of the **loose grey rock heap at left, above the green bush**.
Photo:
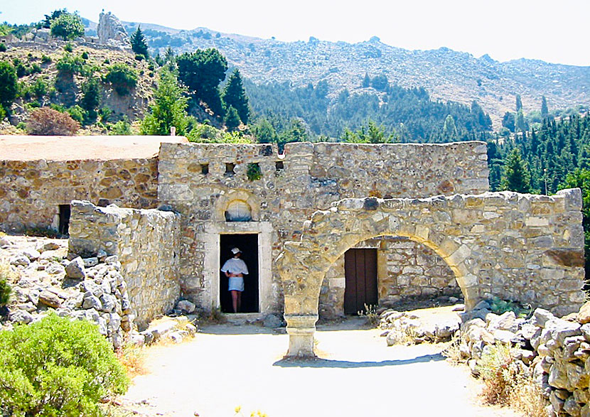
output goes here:
{"type": "Polygon", "coordinates": [[[102,252],[97,257],[78,256],[68,261],[63,258],[63,249],[48,242],[10,257],[18,278],[9,315],[1,326],[32,323],[53,309],[60,316],[96,323],[115,348],[121,347],[124,333],[135,328],[117,256],[102,252]]]}

